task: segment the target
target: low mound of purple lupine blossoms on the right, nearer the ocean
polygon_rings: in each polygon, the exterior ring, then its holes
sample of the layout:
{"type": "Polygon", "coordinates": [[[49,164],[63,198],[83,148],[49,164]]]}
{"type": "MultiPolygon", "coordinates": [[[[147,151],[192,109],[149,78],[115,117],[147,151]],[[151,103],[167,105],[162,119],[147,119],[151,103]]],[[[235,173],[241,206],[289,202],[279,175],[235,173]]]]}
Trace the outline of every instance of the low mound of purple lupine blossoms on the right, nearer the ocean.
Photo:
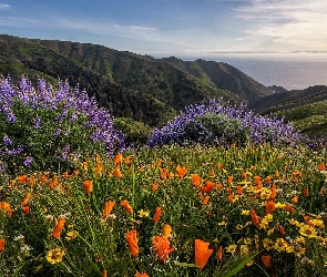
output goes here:
{"type": "MultiPolygon", "coordinates": [[[[293,125],[285,123],[283,119],[276,116],[260,116],[256,115],[252,111],[247,111],[246,106],[241,105],[224,105],[222,100],[211,100],[207,104],[190,105],[174,120],[170,121],[162,129],[155,129],[152,136],[147,141],[149,146],[161,146],[170,143],[177,143],[185,145],[188,143],[226,143],[226,136],[224,133],[216,136],[216,133],[204,124],[203,119],[210,117],[210,115],[222,115],[221,117],[239,123],[237,130],[228,130],[229,137],[236,137],[237,134],[246,133],[248,142],[254,144],[283,144],[294,143],[299,138],[298,133],[293,129],[293,125]]],[[[215,116],[212,116],[215,117],[215,116]]],[[[216,116],[217,117],[217,116],[216,116]]],[[[221,129],[227,129],[226,121],[214,122],[216,126],[222,125],[221,129]]]]}

